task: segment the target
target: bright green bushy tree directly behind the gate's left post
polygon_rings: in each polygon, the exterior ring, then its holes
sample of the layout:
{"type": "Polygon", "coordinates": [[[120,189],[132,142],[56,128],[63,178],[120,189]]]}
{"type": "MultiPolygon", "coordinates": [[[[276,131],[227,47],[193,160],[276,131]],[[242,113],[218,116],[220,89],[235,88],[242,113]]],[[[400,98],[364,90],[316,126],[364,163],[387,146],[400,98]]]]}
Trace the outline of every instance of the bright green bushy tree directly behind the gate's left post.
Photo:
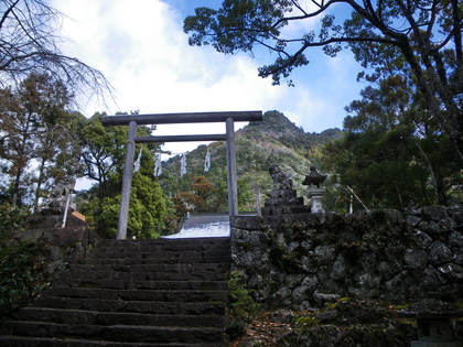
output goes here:
{"type": "MultiPolygon", "coordinates": [[[[122,115],[122,113],[120,113],[122,115]]],[[[127,115],[127,113],[123,113],[127,115]]],[[[128,127],[103,127],[96,113],[82,127],[82,158],[85,176],[96,184],[83,197],[80,210],[96,231],[114,238],[120,206],[120,187],[125,163],[128,127]]],[[[138,135],[149,135],[150,129],[138,127],[138,135]]],[[[157,177],[153,177],[153,151],[158,144],[137,144],[142,151],[140,171],[133,174],[130,194],[128,237],[154,238],[164,232],[168,206],[157,177]]]]}

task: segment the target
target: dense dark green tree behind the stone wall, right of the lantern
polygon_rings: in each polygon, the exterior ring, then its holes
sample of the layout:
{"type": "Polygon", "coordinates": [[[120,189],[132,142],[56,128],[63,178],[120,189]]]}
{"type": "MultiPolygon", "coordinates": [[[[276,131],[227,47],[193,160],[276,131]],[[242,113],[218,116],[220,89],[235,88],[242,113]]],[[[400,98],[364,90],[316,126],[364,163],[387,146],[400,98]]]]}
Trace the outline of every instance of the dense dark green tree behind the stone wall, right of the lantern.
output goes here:
{"type": "Polygon", "coordinates": [[[422,95],[410,80],[392,74],[376,84],[346,107],[346,135],[325,148],[323,162],[341,183],[332,197],[349,186],[369,208],[446,205],[461,185],[455,149],[423,121],[422,95]]]}

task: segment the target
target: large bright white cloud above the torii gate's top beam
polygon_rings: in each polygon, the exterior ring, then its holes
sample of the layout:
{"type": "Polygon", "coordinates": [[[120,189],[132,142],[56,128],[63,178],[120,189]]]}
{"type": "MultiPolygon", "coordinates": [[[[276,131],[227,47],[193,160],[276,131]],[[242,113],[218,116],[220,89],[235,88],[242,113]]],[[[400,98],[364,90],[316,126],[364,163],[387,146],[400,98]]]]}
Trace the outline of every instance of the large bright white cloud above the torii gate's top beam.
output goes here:
{"type": "MultiPolygon", "coordinates": [[[[73,42],[64,50],[99,68],[116,88],[108,113],[262,109],[269,97],[279,98],[249,57],[189,46],[180,13],[161,1],[68,0],[55,7],[73,19],[64,22],[73,42]]],[[[88,105],[86,116],[97,107],[88,105]]]]}

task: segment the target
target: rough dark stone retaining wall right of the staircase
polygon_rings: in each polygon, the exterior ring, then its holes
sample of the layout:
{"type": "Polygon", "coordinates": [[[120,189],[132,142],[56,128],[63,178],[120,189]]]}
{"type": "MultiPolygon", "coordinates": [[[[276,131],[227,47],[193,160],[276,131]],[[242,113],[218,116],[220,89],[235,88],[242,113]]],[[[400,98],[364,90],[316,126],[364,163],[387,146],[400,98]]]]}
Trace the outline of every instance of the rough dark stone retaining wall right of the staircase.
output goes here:
{"type": "Polygon", "coordinates": [[[232,218],[233,270],[258,302],[336,297],[454,301],[463,293],[463,208],[232,218]]]}

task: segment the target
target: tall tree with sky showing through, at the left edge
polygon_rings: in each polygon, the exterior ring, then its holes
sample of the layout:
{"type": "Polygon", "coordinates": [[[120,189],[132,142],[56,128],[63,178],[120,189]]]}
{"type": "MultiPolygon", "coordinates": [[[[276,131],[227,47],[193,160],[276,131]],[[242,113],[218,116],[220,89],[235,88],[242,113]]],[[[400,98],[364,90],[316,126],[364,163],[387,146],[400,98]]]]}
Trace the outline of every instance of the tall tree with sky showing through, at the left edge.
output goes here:
{"type": "Polygon", "coordinates": [[[46,74],[0,89],[0,158],[11,204],[36,210],[44,186],[78,173],[75,128],[82,116],[69,109],[73,98],[46,74]]]}

